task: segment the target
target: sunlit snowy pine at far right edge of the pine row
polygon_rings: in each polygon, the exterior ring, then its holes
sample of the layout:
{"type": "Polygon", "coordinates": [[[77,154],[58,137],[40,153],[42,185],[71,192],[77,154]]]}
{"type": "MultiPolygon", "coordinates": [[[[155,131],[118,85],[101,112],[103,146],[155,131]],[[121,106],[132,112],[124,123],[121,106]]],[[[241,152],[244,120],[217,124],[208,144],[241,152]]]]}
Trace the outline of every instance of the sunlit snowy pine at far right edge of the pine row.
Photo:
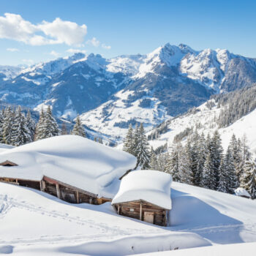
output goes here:
{"type": "Polygon", "coordinates": [[[246,159],[240,186],[249,192],[252,199],[256,199],[256,163],[250,158],[246,159]]]}

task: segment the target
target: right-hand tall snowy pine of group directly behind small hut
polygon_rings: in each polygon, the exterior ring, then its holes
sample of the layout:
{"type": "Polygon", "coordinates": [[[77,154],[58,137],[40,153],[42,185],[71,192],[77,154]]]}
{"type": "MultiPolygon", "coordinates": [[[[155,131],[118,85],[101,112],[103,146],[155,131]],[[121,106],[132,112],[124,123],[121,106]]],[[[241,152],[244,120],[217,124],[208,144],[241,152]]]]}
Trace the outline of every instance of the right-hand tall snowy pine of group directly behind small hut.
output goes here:
{"type": "Polygon", "coordinates": [[[138,134],[136,135],[136,157],[137,157],[137,166],[142,167],[142,169],[147,169],[149,164],[150,154],[148,151],[148,139],[145,135],[145,130],[143,124],[140,124],[138,129],[138,134]]]}

